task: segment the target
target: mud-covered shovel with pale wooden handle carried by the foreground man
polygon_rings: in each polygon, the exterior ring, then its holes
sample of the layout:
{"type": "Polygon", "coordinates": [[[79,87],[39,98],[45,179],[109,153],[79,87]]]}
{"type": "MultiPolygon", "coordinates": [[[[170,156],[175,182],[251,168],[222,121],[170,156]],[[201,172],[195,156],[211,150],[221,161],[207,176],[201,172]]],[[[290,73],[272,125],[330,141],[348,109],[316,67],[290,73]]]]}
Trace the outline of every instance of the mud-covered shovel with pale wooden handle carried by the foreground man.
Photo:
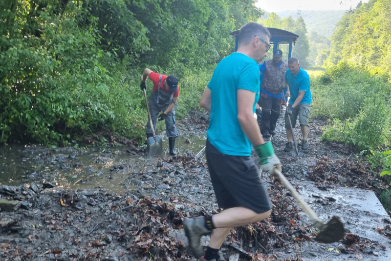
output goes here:
{"type": "Polygon", "coordinates": [[[330,221],[324,224],[315,214],[315,212],[300,198],[299,193],[293,188],[290,182],[282,175],[278,169],[274,169],[274,175],[284,184],[284,186],[290,191],[295,200],[302,207],[303,211],[309,216],[313,225],[319,228],[320,232],[316,236],[315,240],[322,243],[334,243],[340,241],[345,236],[344,224],[338,217],[333,217],[330,221]]]}

